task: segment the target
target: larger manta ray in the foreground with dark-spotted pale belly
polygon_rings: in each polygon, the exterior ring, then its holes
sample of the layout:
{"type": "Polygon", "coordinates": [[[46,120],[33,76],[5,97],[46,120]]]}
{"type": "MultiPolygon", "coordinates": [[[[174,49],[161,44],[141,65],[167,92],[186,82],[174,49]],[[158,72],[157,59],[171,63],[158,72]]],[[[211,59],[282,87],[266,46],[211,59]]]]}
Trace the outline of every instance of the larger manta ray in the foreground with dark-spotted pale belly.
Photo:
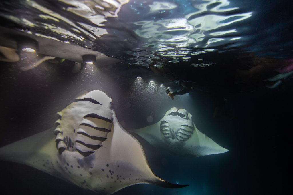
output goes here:
{"type": "Polygon", "coordinates": [[[154,175],[140,143],[119,124],[112,99],[94,90],[62,111],[55,127],[0,148],[0,158],[23,163],[100,194],[140,183],[167,188],[154,175]]]}

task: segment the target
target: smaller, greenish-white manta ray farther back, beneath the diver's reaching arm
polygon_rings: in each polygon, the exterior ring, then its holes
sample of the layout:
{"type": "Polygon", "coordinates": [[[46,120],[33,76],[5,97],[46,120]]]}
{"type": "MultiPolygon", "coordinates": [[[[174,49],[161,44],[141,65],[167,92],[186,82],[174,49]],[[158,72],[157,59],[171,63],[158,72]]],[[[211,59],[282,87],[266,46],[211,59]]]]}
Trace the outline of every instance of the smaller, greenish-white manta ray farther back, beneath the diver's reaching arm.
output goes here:
{"type": "Polygon", "coordinates": [[[228,151],[202,134],[191,117],[187,110],[173,107],[159,122],[130,132],[138,134],[155,147],[180,156],[198,157],[228,151]]]}

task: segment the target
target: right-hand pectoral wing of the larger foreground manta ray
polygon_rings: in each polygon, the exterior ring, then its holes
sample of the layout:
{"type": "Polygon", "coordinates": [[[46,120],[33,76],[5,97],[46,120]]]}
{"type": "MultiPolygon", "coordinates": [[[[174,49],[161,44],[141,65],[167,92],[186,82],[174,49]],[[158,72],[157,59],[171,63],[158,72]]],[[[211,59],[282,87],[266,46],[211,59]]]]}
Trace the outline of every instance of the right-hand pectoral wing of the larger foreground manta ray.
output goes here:
{"type": "MultiPolygon", "coordinates": [[[[116,184],[117,190],[140,183],[155,184],[166,188],[188,186],[172,184],[156,176],[149,167],[141,144],[120,125],[115,112],[113,112],[113,124],[113,134],[112,132],[108,134],[111,141],[107,139],[103,148],[98,152],[99,156],[108,156],[108,161],[104,161],[107,167],[103,169],[115,172],[115,178],[119,182],[116,184]]],[[[111,181],[111,179],[109,180],[111,181]]]]}

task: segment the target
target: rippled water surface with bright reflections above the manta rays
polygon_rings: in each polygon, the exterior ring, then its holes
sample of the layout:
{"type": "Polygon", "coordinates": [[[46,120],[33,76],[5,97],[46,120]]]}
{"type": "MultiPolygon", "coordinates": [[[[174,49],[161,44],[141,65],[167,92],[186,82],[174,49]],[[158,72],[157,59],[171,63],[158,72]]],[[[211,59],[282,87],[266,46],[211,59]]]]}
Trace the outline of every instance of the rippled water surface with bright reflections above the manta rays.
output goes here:
{"type": "Polygon", "coordinates": [[[1,4],[1,16],[10,28],[142,66],[154,59],[190,63],[202,54],[237,49],[292,56],[292,17],[287,17],[287,11],[280,14],[285,1],[21,0],[1,4]]]}

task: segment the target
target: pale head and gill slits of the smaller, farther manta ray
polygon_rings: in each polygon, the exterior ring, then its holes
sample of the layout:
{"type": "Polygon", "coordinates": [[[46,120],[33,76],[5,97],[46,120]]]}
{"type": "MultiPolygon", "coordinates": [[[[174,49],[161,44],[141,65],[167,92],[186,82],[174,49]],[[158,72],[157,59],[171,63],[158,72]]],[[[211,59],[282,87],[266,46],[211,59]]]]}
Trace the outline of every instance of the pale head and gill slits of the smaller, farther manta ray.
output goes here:
{"type": "Polygon", "coordinates": [[[167,139],[187,141],[194,131],[191,114],[185,109],[173,107],[161,120],[160,129],[163,137],[167,139]]]}

